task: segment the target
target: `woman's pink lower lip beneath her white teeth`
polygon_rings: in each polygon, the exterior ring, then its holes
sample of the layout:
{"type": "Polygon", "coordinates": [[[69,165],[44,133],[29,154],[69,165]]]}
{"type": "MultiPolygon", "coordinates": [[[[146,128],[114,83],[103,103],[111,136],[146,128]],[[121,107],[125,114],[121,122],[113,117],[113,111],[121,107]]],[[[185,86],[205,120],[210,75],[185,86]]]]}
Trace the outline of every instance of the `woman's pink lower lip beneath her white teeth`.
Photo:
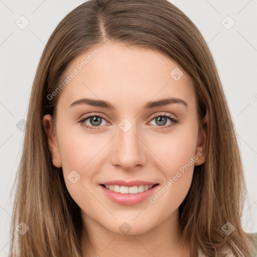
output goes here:
{"type": "Polygon", "coordinates": [[[106,194],[106,196],[109,199],[122,205],[134,205],[144,201],[145,199],[149,198],[153,194],[153,192],[156,190],[158,186],[159,185],[155,185],[151,189],[148,189],[147,191],[137,193],[137,194],[121,194],[121,193],[116,193],[114,191],[111,191],[105,188],[104,186],[100,185],[103,192],[106,194]]]}

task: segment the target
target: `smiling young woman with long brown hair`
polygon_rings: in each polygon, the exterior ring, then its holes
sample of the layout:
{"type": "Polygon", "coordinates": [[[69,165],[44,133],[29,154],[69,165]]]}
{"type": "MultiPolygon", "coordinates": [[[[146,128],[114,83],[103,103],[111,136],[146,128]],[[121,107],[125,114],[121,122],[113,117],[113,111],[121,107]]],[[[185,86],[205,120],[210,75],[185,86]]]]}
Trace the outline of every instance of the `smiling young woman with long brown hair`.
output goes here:
{"type": "Polygon", "coordinates": [[[19,256],[252,256],[244,194],[222,85],[185,14],[96,0],[60,22],[30,98],[19,256]]]}

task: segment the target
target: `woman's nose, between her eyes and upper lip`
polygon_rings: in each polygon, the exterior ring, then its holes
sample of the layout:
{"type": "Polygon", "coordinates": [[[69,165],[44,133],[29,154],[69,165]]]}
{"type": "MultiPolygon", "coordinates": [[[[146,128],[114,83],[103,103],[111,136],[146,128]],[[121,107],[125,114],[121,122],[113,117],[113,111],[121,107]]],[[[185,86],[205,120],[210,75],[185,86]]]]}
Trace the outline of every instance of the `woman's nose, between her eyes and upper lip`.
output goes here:
{"type": "Polygon", "coordinates": [[[146,143],[144,144],[142,132],[136,125],[132,125],[127,131],[122,125],[117,127],[117,136],[113,140],[112,147],[112,165],[121,167],[125,171],[135,170],[145,165],[147,146],[146,143]]]}

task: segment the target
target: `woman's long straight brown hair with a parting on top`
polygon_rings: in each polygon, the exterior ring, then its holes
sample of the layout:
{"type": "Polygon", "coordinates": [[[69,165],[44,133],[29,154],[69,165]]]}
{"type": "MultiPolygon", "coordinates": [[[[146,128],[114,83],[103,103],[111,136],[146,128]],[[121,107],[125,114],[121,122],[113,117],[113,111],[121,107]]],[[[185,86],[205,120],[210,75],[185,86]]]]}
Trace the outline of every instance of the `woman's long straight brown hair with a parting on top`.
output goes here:
{"type": "Polygon", "coordinates": [[[20,257],[81,256],[80,208],[67,191],[62,168],[52,163],[42,120],[45,114],[55,114],[61,92],[53,99],[48,95],[71,61],[106,40],[155,49],[174,60],[194,86],[199,127],[208,112],[206,161],[195,167],[191,188],[179,207],[180,228],[190,240],[191,255],[198,256],[200,247],[208,256],[223,256],[226,246],[237,254],[236,246],[245,257],[251,256],[252,239],[240,221],[246,195],[243,169],[218,72],[197,27],[166,0],[88,1],[66,15],[52,33],[30,96],[10,255],[16,256],[17,240],[20,257]],[[235,228],[229,235],[222,230],[226,222],[235,228]],[[18,224],[28,231],[18,233],[18,224]]]}

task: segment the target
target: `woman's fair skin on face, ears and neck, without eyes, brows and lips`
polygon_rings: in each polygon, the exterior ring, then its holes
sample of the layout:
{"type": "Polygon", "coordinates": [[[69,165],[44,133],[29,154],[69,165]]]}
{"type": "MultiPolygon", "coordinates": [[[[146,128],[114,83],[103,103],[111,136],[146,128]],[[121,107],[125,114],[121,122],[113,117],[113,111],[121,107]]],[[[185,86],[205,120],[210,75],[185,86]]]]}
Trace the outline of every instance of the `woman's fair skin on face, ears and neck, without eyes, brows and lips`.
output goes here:
{"type": "MultiPolygon", "coordinates": [[[[81,208],[83,231],[88,231],[91,240],[89,256],[189,257],[188,242],[182,247],[180,239],[178,208],[189,191],[194,166],[205,161],[206,145],[205,129],[198,130],[193,87],[185,72],[178,81],[170,76],[179,67],[170,58],[155,50],[120,43],[106,42],[76,57],[67,74],[95,48],[99,54],[62,89],[55,126],[50,114],[43,118],[53,164],[63,167],[67,189],[81,208]],[[83,97],[106,100],[116,108],[87,104],[69,107],[83,97]],[[188,107],[173,103],[142,109],[150,100],[167,97],[180,98],[188,107]],[[79,122],[86,115],[97,114],[104,119],[96,130],[79,122]],[[172,121],[167,118],[160,125],[155,117],[163,114],[170,114],[179,123],[168,127],[172,121]],[[127,132],[118,126],[124,118],[132,124],[127,132]],[[100,190],[103,181],[146,180],[160,184],[156,194],[198,152],[201,159],[155,203],[146,199],[136,205],[120,205],[100,190]],[[80,175],[74,184],[67,178],[72,170],[80,175]],[[128,234],[119,230],[123,222],[132,228],[128,234]]],[[[208,122],[207,115],[203,122],[208,122]]],[[[85,123],[94,127],[97,122],[87,119],[85,123]]],[[[85,245],[83,233],[83,256],[87,256],[85,245]]]]}

